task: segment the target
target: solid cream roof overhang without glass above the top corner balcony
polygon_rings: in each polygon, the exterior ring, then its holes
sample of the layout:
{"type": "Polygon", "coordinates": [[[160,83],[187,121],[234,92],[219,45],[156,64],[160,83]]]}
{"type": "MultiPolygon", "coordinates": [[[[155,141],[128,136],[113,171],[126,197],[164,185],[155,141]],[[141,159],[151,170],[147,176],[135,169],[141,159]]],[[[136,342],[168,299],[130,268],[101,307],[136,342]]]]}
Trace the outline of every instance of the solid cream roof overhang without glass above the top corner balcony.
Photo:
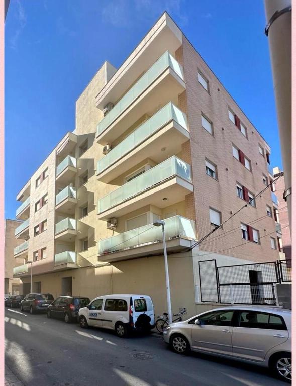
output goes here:
{"type": "Polygon", "coordinates": [[[108,102],[115,103],[165,50],[174,54],[182,44],[182,32],[164,13],[127,57],[110,81],[96,95],[96,107],[103,110],[108,102]]]}

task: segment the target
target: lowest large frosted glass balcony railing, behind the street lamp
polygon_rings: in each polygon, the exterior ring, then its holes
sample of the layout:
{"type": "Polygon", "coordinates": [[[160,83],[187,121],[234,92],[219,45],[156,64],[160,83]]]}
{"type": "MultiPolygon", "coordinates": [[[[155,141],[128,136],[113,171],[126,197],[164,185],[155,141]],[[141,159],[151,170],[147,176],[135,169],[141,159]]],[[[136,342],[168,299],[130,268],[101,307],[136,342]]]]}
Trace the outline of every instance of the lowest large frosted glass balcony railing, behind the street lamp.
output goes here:
{"type": "MultiPolygon", "coordinates": [[[[196,240],[195,221],[186,219],[182,216],[174,216],[165,219],[164,222],[164,234],[166,240],[177,237],[196,240]]],[[[161,241],[162,228],[155,227],[153,224],[148,224],[101,240],[99,242],[98,253],[102,255],[161,241]]]]}

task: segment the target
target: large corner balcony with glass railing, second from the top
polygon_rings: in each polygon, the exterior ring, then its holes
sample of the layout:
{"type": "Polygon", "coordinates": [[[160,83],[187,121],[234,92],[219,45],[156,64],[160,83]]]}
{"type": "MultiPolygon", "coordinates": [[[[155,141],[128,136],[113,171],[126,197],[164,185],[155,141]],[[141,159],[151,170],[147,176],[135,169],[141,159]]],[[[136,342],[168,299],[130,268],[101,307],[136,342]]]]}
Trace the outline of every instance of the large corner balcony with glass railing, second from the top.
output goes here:
{"type": "Polygon", "coordinates": [[[186,114],[169,102],[97,162],[98,179],[109,183],[147,158],[160,163],[188,139],[186,114]]]}

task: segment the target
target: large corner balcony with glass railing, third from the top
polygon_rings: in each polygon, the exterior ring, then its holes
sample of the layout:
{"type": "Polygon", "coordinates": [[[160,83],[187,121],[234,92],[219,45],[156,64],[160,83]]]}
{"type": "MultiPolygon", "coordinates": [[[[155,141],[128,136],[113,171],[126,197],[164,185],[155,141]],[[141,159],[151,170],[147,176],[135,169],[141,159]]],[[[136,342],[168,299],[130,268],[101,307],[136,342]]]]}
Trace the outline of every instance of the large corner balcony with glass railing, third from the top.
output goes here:
{"type": "Polygon", "coordinates": [[[192,191],[191,166],[173,156],[98,200],[98,218],[123,216],[148,204],[165,208],[192,191]]]}

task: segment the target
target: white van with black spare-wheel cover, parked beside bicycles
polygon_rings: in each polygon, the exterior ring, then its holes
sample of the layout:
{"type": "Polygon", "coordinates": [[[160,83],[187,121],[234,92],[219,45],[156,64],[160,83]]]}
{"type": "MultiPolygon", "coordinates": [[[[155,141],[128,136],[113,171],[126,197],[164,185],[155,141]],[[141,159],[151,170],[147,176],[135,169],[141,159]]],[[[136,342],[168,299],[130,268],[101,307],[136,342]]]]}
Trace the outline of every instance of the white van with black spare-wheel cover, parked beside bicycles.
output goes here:
{"type": "Polygon", "coordinates": [[[78,320],[82,328],[109,328],[122,338],[133,329],[148,332],[155,324],[150,296],[133,294],[98,296],[87,307],[80,308],[78,320]]]}

